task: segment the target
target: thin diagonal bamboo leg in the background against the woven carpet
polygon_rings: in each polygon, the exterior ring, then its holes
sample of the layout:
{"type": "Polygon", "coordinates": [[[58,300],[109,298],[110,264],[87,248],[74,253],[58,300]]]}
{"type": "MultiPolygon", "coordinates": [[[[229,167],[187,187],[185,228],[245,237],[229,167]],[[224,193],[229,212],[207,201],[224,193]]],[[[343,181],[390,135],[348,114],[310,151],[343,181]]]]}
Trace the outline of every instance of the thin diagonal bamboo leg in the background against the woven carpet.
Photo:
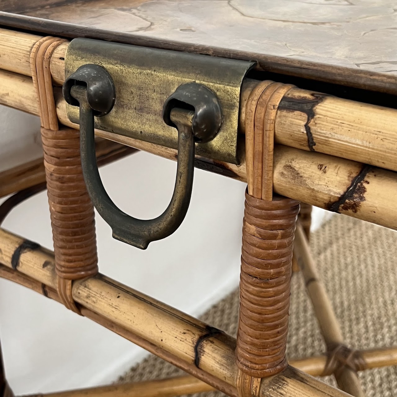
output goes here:
{"type": "MultiPolygon", "coordinates": [[[[294,253],[302,270],[306,289],[312,301],[314,313],[326,345],[343,345],[341,328],[324,285],[321,283],[316,271],[307,237],[300,222],[297,223],[295,231],[294,253]]],[[[364,397],[357,372],[348,367],[343,367],[340,371],[335,372],[334,375],[342,390],[356,397],[364,397]]]]}

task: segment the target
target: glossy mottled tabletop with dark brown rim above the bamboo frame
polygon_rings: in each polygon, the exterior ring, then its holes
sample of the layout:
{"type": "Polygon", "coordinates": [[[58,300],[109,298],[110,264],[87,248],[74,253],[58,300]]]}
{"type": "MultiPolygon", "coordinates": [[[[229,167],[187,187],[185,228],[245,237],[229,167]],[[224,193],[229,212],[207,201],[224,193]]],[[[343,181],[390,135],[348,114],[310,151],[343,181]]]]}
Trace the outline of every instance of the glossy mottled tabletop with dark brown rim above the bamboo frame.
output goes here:
{"type": "Polygon", "coordinates": [[[393,0],[3,0],[0,24],[256,60],[276,73],[397,93],[393,0]]]}

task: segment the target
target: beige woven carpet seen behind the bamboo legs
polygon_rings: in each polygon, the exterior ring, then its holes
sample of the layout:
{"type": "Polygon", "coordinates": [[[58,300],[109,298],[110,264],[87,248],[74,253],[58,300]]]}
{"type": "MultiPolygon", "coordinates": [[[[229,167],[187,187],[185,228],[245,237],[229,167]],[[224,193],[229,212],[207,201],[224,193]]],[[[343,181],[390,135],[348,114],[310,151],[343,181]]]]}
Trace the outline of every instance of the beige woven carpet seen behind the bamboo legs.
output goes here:
{"type": "MultiPolygon", "coordinates": [[[[312,234],[310,245],[346,344],[355,349],[396,345],[397,232],[336,215],[312,234]]],[[[201,319],[235,336],[238,304],[236,289],[201,319]]],[[[289,312],[288,357],[322,353],[324,343],[299,273],[293,275],[289,312]]],[[[150,356],[124,374],[120,382],[179,374],[183,372],[150,356]]],[[[335,385],[332,377],[323,379],[335,385]]],[[[360,373],[360,380],[368,397],[397,396],[397,366],[366,370],[360,373]]],[[[195,396],[224,394],[211,392],[195,396]]]]}

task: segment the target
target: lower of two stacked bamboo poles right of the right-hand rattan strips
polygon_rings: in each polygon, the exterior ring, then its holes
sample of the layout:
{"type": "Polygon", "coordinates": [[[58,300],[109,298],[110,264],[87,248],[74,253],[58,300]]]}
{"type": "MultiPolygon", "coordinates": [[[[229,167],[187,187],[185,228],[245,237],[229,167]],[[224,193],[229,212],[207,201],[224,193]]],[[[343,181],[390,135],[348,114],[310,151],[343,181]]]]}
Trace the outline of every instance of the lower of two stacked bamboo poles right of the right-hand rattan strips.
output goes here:
{"type": "Polygon", "coordinates": [[[278,145],[274,191],[326,210],[397,229],[397,175],[327,154],[278,145]]]}

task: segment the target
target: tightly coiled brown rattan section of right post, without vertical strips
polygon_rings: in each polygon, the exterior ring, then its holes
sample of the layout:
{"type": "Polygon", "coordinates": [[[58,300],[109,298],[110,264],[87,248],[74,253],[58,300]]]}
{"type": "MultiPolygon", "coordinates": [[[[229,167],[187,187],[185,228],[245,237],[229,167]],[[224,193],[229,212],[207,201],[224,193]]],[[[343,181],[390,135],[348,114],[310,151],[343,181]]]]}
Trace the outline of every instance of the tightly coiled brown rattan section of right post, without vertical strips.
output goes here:
{"type": "Polygon", "coordinates": [[[262,378],[287,366],[291,260],[299,202],[283,197],[267,201],[248,192],[245,198],[236,357],[241,371],[262,378]]]}

